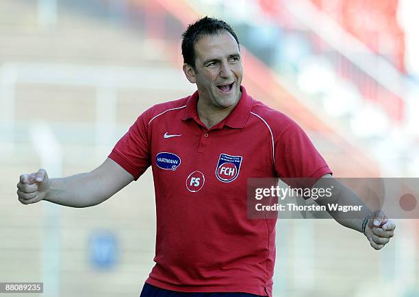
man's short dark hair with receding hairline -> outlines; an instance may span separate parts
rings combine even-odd
[[[227,31],[236,39],[240,49],[240,42],[236,32],[225,21],[209,18],[208,16],[199,19],[195,23],[188,25],[188,29],[182,34],[182,56],[183,62],[189,64],[195,69],[195,50],[194,45],[203,35],[214,35]]]

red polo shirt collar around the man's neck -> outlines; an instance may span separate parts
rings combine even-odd
[[[253,99],[246,93],[246,88],[240,86],[242,91],[242,97],[240,97],[236,107],[230,112],[230,114],[221,121],[220,128],[226,125],[230,128],[241,129],[244,127],[244,124],[247,121],[247,118],[250,115]],[[183,114],[182,120],[186,121],[188,119],[194,119],[194,121],[201,123],[199,119],[198,110],[196,109],[196,104],[198,103],[199,95],[198,91],[195,91],[186,102],[185,113]]]

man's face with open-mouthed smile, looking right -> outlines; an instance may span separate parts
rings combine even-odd
[[[243,68],[238,44],[227,31],[204,35],[195,44],[195,69],[190,82],[198,87],[201,104],[211,109],[235,106],[240,99]],[[191,68],[191,67],[190,67]]]

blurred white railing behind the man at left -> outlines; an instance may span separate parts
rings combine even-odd
[[[16,87],[18,84],[91,86],[97,89],[97,143],[109,143],[110,131],[116,130],[117,91],[123,88],[139,90],[193,90],[183,78],[181,69],[158,67],[102,67],[70,64],[8,63],[0,67],[0,143],[14,143]],[[59,108],[59,106],[58,106]],[[29,119],[30,120],[30,119]]]

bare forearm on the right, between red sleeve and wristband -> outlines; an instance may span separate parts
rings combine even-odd
[[[326,185],[327,183],[327,185]],[[321,186],[320,186],[321,185]],[[342,226],[351,228],[362,232],[362,222],[367,215],[370,215],[372,211],[364,203],[361,198],[353,190],[345,187],[334,178],[325,178],[323,184],[319,187],[331,187],[333,186],[332,195],[330,198],[320,198],[316,200],[319,205],[325,205],[327,212],[335,219],[336,222]],[[328,207],[327,204],[338,204],[341,206],[358,206],[359,211],[340,211],[333,210]]]

